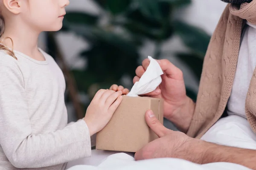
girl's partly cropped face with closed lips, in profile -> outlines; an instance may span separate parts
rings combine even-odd
[[[58,31],[69,0],[22,0],[20,19],[36,31]]]

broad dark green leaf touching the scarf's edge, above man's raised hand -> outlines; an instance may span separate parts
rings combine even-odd
[[[204,57],[209,44],[210,36],[200,28],[190,26],[180,21],[174,21],[175,33],[180,36],[185,45]]]

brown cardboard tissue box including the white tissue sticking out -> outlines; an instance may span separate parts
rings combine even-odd
[[[122,102],[108,124],[96,134],[96,149],[137,152],[157,135],[148,127],[145,113],[151,109],[163,123],[163,100],[140,97],[154,91],[162,82],[162,69],[158,62],[148,56],[148,68]]]

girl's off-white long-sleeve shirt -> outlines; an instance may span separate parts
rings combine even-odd
[[[63,170],[65,162],[91,155],[84,120],[67,125],[64,75],[39,50],[45,61],[0,51],[1,170]]]

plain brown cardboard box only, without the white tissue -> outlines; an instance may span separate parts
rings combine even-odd
[[[96,134],[96,149],[137,152],[157,139],[145,122],[149,109],[163,124],[163,99],[123,96],[110,122]]]

